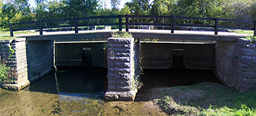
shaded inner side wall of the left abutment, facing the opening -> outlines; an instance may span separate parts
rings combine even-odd
[[[29,81],[44,77],[54,69],[54,41],[27,41],[27,77]]]

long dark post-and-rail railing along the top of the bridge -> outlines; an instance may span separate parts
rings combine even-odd
[[[164,20],[162,20],[162,23],[130,23],[130,19],[168,19],[169,23],[164,23]],[[98,23],[91,23],[91,19],[98,19]],[[99,19],[115,19],[114,23],[106,23],[103,20],[103,23],[99,23]],[[117,21],[117,20],[118,21]],[[204,25],[204,24],[183,24],[183,23],[175,23],[177,19],[185,19],[185,20],[203,20],[203,21],[214,21],[214,24],[212,25]],[[90,23],[82,23],[78,24],[82,21],[90,20]],[[61,26],[46,26],[46,23],[52,23],[52,22],[73,22],[72,24]],[[221,22],[236,22],[236,23],[249,23],[250,27],[225,27],[220,26]],[[43,23],[45,23],[45,26],[43,27]],[[14,29],[13,26],[15,25],[24,25],[24,24],[33,24],[34,27],[31,28],[19,28]],[[36,26],[38,24],[38,26]],[[241,30],[251,30],[254,31],[254,36],[256,36],[256,21],[247,21],[247,20],[236,20],[236,19],[219,19],[219,18],[196,18],[196,17],[179,17],[179,16],[153,16],[153,15],[113,15],[113,16],[95,16],[95,17],[86,17],[86,18],[73,18],[73,19],[52,19],[52,20],[40,20],[36,22],[27,22],[27,23],[10,23],[10,36],[14,36],[14,31],[23,31],[23,30],[39,30],[40,35],[43,35],[43,29],[44,28],[59,28],[59,27],[73,27],[75,33],[78,33],[78,27],[90,27],[90,26],[118,26],[119,31],[122,31],[122,27],[125,26],[125,31],[129,31],[130,26],[162,26],[162,27],[170,27],[171,33],[174,33],[175,27],[210,27],[213,28],[215,31],[215,35],[218,35],[218,31],[220,28],[229,28],[229,29],[241,29]]]

